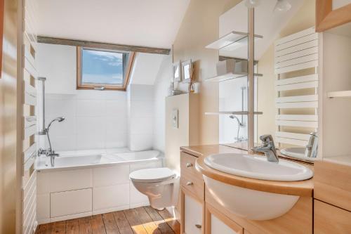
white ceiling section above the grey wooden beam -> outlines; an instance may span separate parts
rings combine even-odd
[[[190,0],[37,0],[38,34],[171,48]]]

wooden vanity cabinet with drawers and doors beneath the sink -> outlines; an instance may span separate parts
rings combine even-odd
[[[182,234],[312,234],[312,197],[300,197],[289,212],[277,219],[244,219],[225,209],[208,193],[202,175],[195,168],[197,159],[190,152],[180,152]]]

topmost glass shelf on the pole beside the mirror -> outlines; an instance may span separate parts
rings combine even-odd
[[[223,37],[220,37],[217,41],[206,46],[206,48],[213,49],[225,49],[227,51],[234,51],[242,46],[247,46],[249,34],[247,32],[236,32],[232,31]],[[261,39],[263,36],[255,35],[255,40]]]

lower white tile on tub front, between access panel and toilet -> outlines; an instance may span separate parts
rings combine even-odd
[[[129,183],[93,188],[93,210],[129,205]]]

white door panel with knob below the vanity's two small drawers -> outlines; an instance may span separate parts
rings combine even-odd
[[[185,194],[184,229],[187,234],[201,234],[202,204]]]

